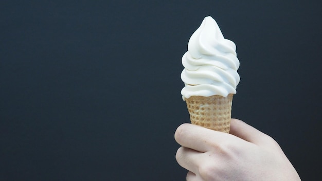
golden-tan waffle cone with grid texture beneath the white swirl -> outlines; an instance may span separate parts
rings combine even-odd
[[[186,98],[191,123],[229,133],[232,96],[233,94],[227,97],[214,95]]]

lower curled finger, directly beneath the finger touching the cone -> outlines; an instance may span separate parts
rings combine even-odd
[[[197,173],[200,164],[200,154],[202,153],[189,148],[180,147],[175,154],[175,159],[181,167],[193,173]]]

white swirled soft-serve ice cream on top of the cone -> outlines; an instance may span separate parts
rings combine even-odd
[[[205,17],[191,35],[182,64],[185,67],[181,73],[185,83],[181,91],[183,100],[191,96],[236,94],[240,81],[236,45],[224,38],[211,16]]]

